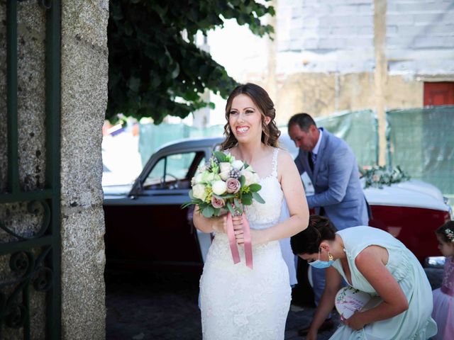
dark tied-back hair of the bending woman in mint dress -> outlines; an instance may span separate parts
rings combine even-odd
[[[293,254],[314,254],[319,252],[323,240],[336,239],[336,227],[328,217],[319,215],[309,216],[309,225],[306,229],[292,236],[290,245]]]

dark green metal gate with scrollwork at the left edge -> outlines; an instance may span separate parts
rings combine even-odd
[[[38,294],[43,295],[45,337],[60,339],[60,0],[38,1],[45,11],[46,160],[44,188],[35,191],[23,190],[19,178],[18,2],[6,2],[8,169],[6,192],[0,193],[6,210],[3,220],[0,216],[0,232],[6,235],[0,239],[0,339],[36,337],[30,310]],[[9,209],[18,205],[39,221],[36,232],[11,227]]]

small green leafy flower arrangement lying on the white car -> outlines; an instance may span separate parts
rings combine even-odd
[[[409,181],[410,176],[395,166],[393,169],[386,166],[372,166],[370,169],[362,171],[362,177],[365,179],[364,188],[380,188],[384,185],[390,186],[392,183]]]

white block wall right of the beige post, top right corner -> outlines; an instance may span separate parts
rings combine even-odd
[[[454,1],[388,0],[389,74],[454,74]]]

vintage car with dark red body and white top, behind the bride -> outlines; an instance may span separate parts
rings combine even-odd
[[[206,162],[221,137],[182,140],[153,154],[131,184],[104,186],[107,266],[200,271],[211,235],[192,225],[190,181]],[[288,135],[279,139],[294,156],[297,148]],[[314,193],[302,177],[306,194]],[[405,181],[384,188],[366,188],[372,210],[370,225],[400,239],[423,263],[439,254],[434,230],[452,218],[438,188],[421,181]]]

